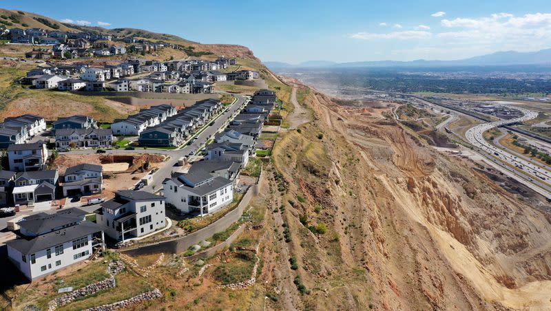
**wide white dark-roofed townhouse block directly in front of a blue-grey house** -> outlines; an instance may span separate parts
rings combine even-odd
[[[56,148],[106,148],[113,143],[112,129],[56,129]]]

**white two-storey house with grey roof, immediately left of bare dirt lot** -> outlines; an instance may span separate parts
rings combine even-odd
[[[94,164],[79,164],[69,167],[63,175],[63,196],[101,193],[103,167]]]

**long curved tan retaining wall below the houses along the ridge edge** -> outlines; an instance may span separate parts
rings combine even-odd
[[[243,195],[241,201],[239,202],[238,206],[234,208],[232,211],[229,211],[226,215],[224,215],[222,218],[216,220],[216,222],[213,222],[212,224],[209,224],[209,226],[206,226],[205,228],[201,228],[194,233],[190,233],[189,235],[185,235],[184,237],[177,237],[176,239],[171,239],[169,241],[163,241],[158,242],[154,244],[148,244],[145,246],[137,246],[136,248],[130,248],[127,250],[121,250],[121,253],[125,253],[127,255],[145,255],[145,254],[155,254],[155,253],[182,253],[185,250],[187,250],[190,246],[194,244],[198,244],[199,242],[211,237],[215,233],[222,232],[229,228],[233,223],[237,222],[240,217],[243,215],[243,212],[245,211],[245,208],[249,206],[249,203],[251,202],[251,199],[254,195],[258,195],[260,192],[261,187],[264,185],[264,170],[260,172],[260,177],[258,178],[258,181],[255,185],[251,186],[245,195]],[[243,228],[244,226],[242,226]],[[242,230],[242,229],[241,229]],[[238,235],[233,233],[233,235],[230,236],[235,239]],[[228,240],[229,240],[228,239]],[[231,239],[231,242],[233,242],[233,239]],[[226,241],[227,242],[227,241]],[[231,244],[229,242],[229,244]],[[229,245],[227,243],[222,243],[219,246],[215,246],[216,250],[222,249],[225,246]],[[216,252],[216,250],[213,251]]]

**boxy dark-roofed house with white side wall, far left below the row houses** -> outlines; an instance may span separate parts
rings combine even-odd
[[[10,144],[7,153],[10,171],[38,171],[46,168],[48,149],[41,140],[32,144]]]

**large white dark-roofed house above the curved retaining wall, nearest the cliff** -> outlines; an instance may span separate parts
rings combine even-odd
[[[193,167],[193,165],[191,166]],[[233,201],[233,180],[196,169],[163,182],[167,204],[183,213],[199,212],[201,217]]]

